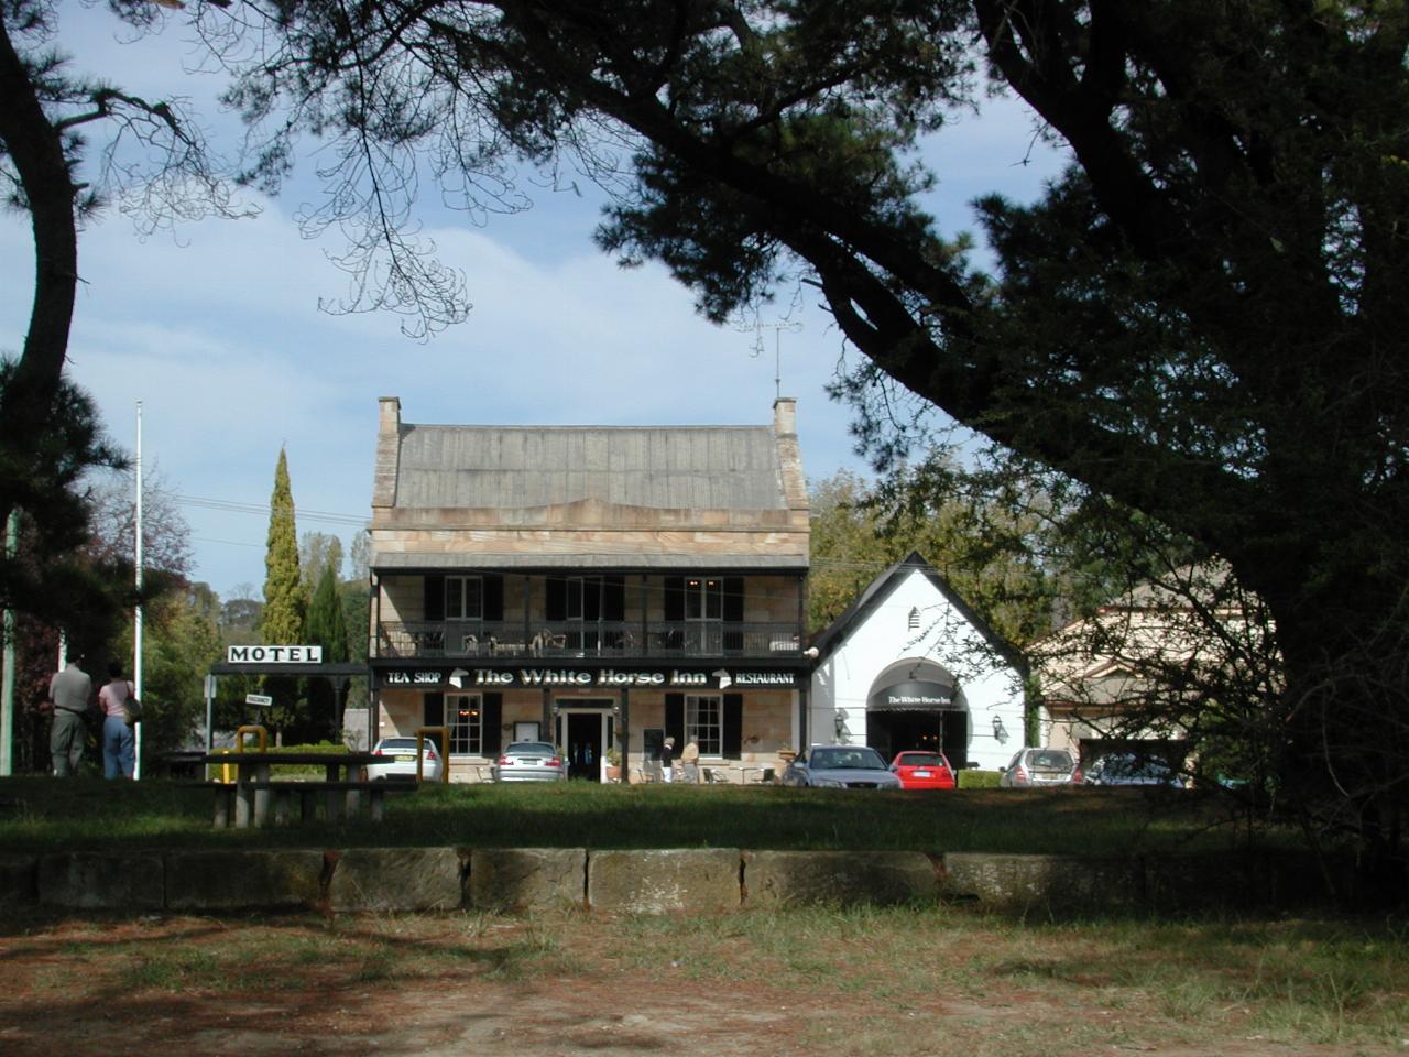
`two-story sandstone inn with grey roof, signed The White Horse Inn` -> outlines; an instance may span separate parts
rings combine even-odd
[[[809,505],[771,426],[402,421],[372,499],[378,736],[448,727],[455,781],[545,740],[637,777],[674,736],[734,781],[807,744]]]

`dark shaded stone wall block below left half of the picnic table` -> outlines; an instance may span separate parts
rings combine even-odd
[[[323,902],[321,851],[273,848],[172,851],[166,855],[170,910],[286,910]]]

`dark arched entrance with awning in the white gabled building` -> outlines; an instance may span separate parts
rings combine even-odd
[[[909,748],[941,751],[955,768],[968,762],[969,715],[954,675],[934,661],[886,667],[867,693],[867,744],[890,760]]]

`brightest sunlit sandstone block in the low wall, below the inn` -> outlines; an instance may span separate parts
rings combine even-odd
[[[593,910],[671,913],[737,910],[737,848],[593,851],[588,855],[588,903]]]

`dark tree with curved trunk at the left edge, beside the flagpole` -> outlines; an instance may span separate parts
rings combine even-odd
[[[110,8],[139,31],[162,17],[142,0],[114,0]],[[0,190],[30,216],[35,251],[24,345],[4,365],[0,386],[0,524],[24,510],[51,554],[80,545],[83,505],[77,495],[65,496],[72,478],[48,471],[120,462],[92,409],[76,407],[82,396],[63,382],[80,224],[110,199],[148,231],[207,210],[232,211],[179,107],[70,73],[52,47],[56,18],[49,0],[0,4]],[[89,132],[107,135],[96,156]],[[42,609],[72,586],[59,582],[68,575],[62,564],[34,562],[30,579],[24,571],[11,576],[8,565],[0,558],[11,606]],[[46,582],[35,588],[32,575]],[[85,605],[97,609],[101,599]]]

